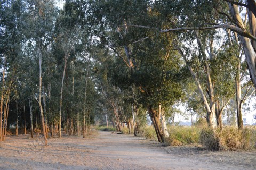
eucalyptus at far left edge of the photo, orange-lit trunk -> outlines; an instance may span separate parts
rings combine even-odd
[[[1,1],[0,6],[0,56],[2,79],[1,79],[1,104],[0,104],[0,141],[4,140],[4,132],[2,126],[7,128],[7,111],[9,111],[9,96],[11,92],[12,83],[17,80],[15,73],[18,73],[18,60],[20,57],[20,50],[22,49],[22,25],[23,25],[23,2],[22,1]],[[6,74],[7,73],[7,74]],[[16,82],[17,83],[17,82]],[[5,103],[5,105],[4,105]],[[4,105],[4,120],[3,117]],[[2,122],[2,120],[4,122]],[[2,123],[6,123],[3,125]],[[6,129],[5,129],[6,131]]]

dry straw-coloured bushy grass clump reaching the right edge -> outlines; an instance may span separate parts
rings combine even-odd
[[[200,140],[208,150],[235,150],[256,148],[256,129],[236,127],[216,129],[205,128],[201,131]]]

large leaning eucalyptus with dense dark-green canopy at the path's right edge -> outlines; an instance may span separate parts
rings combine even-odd
[[[138,44],[130,44],[138,39],[138,37],[143,38],[148,35],[157,35],[155,31],[145,31],[143,28],[129,27],[130,25],[138,24],[150,24],[151,27],[157,27],[157,25],[161,24],[162,21],[157,20],[157,13],[151,11],[152,4],[153,2],[151,1],[93,1],[89,2],[90,6],[87,11],[89,13],[89,22],[93,21],[91,24],[98,25],[98,29],[95,30],[94,33],[100,38],[101,45],[113,50],[121,59],[118,59],[119,62],[122,61],[124,63],[122,67],[119,68],[120,70],[115,71],[115,73],[119,72],[119,75],[114,75],[114,78],[121,76],[122,83],[131,84],[131,90],[141,88],[141,91],[145,92],[146,95],[143,94],[141,96],[148,98],[145,100],[144,104],[148,107],[148,113],[151,116],[156,133],[158,134],[158,140],[163,141],[159,122],[160,114],[156,112],[153,107],[158,108],[164,105],[165,101],[175,100],[175,97],[169,99],[167,99],[168,97],[164,97],[164,95],[167,96],[169,92],[173,92],[173,94],[177,92],[176,99],[178,99],[180,97],[178,94],[181,91],[177,90],[178,88],[175,89],[177,91],[168,91],[171,86],[174,86],[173,82],[170,83],[169,81],[171,77],[175,75],[175,73],[173,75],[166,73],[166,65],[171,62],[171,57],[169,57],[170,49],[167,48],[171,39],[169,36],[159,36],[160,40],[158,42],[157,38],[148,38],[147,40],[144,39],[145,41],[137,42]],[[137,15],[134,15],[134,13]],[[151,58],[151,60],[149,58]],[[114,65],[120,64],[114,63]],[[171,71],[175,70],[172,68],[169,69]],[[140,79],[140,77],[145,79]],[[168,77],[168,79],[166,77]],[[119,83],[121,81],[119,81]],[[118,82],[118,80],[116,80],[116,82]],[[148,83],[148,85],[146,85],[146,83]],[[118,86],[121,86],[121,84],[118,84]],[[167,91],[165,91],[165,88]],[[158,97],[158,101],[156,97]]]

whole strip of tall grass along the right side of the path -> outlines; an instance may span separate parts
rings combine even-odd
[[[256,128],[247,126],[242,130],[236,127],[223,127],[211,129],[205,125],[169,126],[169,138],[165,139],[167,145],[204,145],[208,150],[236,150],[256,149]],[[153,126],[141,128],[141,135],[148,139],[157,140]]]

